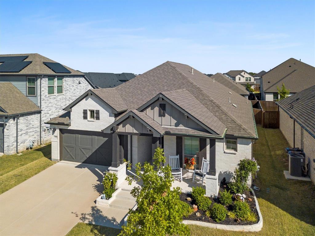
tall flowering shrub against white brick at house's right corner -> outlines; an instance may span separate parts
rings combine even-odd
[[[249,175],[255,178],[257,171],[257,162],[255,159],[242,159],[237,164],[232,176],[232,181],[229,184],[234,193],[243,193],[247,189],[247,181]]]

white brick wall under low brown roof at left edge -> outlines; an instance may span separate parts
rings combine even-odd
[[[16,153],[16,121],[13,117],[4,118],[4,154]],[[21,115],[18,119],[18,151],[26,150],[30,141],[34,141],[34,147],[39,144],[39,112]]]

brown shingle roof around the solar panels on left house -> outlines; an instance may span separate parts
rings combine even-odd
[[[1,72],[0,75],[10,75],[10,74],[44,74],[44,75],[84,75],[82,72],[76,71],[68,66],[66,67],[71,73],[55,73],[49,67],[45,66],[43,62],[56,62],[47,57],[39,55],[37,53],[29,53],[29,54],[2,54],[1,57],[6,56],[28,56],[24,61],[32,61],[31,64],[26,66],[20,72]]]

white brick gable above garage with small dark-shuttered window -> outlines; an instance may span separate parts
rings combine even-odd
[[[89,109],[100,110],[100,120],[83,120],[84,109],[88,110],[88,118]],[[105,129],[108,125],[112,124],[114,120],[115,118],[114,114],[112,113],[112,109],[99,98],[91,95],[87,96],[72,107],[70,129],[100,131],[102,129]]]

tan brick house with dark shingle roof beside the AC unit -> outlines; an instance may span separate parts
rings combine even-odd
[[[315,184],[315,85],[277,102],[280,130],[290,147],[305,153],[308,174]]]

